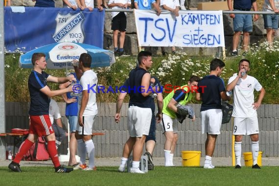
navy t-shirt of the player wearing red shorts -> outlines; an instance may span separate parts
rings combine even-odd
[[[28,89],[30,93],[30,116],[48,115],[50,99],[40,90],[46,87],[48,74],[44,71],[39,73],[32,70],[28,78]]]

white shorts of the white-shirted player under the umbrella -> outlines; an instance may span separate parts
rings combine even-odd
[[[76,131],[78,131],[79,135],[92,135],[93,130],[93,123],[95,120],[95,116],[83,116],[83,124],[84,126],[81,127],[78,123],[76,123]]]

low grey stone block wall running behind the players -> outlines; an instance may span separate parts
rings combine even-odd
[[[65,117],[65,103],[58,103],[63,123],[67,123]],[[98,103],[98,116],[93,125],[93,132],[103,132],[104,136],[93,138],[96,157],[121,157],[123,146],[129,138],[127,130],[127,110],[125,103],[121,109],[121,120],[116,123],[114,120],[116,103]],[[178,124],[179,139],[175,150],[176,157],[181,156],[183,150],[201,151],[205,156],[206,135],[201,134],[200,104],[191,104],[194,108],[197,119],[195,122],[186,119]],[[263,157],[279,157],[279,105],[261,105],[257,111],[259,122],[259,149]],[[12,128],[28,128],[28,103],[6,102],[6,131]],[[65,127],[66,129],[66,127]],[[163,157],[164,136],[160,125],[157,125],[156,147],[153,155]],[[13,144],[13,139],[7,138],[8,145]],[[67,139],[59,147],[59,153],[67,154]],[[244,136],[242,140],[242,152],[251,151],[251,140]],[[223,124],[221,134],[217,138],[214,157],[232,156],[232,121]]]

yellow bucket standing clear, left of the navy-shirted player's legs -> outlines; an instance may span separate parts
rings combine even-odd
[[[182,166],[200,166],[201,151],[181,151]]]

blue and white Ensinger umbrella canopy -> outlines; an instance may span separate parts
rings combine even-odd
[[[45,53],[48,69],[73,69],[72,60],[78,60],[80,54],[88,53],[92,57],[91,67],[108,67],[115,63],[114,52],[97,46],[62,42],[42,46],[31,50],[20,56],[19,66],[21,68],[33,68],[33,53]]]

